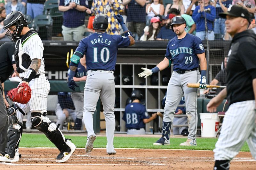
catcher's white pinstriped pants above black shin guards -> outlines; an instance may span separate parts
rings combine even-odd
[[[31,112],[47,112],[47,96],[50,92],[50,83],[46,79],[44,74],[41,74],[39,78],[34,78],[29,82],[29,86],[32,90],[31,99],[26,104],[16,103],[25,114],[30,110]],[[23,115],[19,110],[16,111],[16,117],[19,122],[23,121]],[[50,121],[50,120],[49,120]],[[20,125],[16,124],[15,129],[20,129]]]

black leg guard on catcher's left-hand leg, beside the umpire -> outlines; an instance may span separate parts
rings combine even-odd
[[[5,153],[9,154],[10,158],[13,159],[15,156],[15,148],[17,148],[20,137],[22,134],[22,122],[18,121],[16,117],[16,111],[19,110],[20,113],[24,116],[25,113],[20,109],[16,104],[12,104],[8,109],[8,130],[7,130],[7,144],[5,148]]]

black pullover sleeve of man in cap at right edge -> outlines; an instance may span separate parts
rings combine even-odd
[[[256,43],[252,43],[252,41],[248,43],[243,42],[239,45],[238,49],[240,49],[238,50],[238,56],[240,56],[242,64],[250,72],[252,79],[256,78]]]

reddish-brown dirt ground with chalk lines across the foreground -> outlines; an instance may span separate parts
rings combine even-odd
[[[20,148],[19,162],[0,163],[1,169],[213,169],[212,151],[171,149],[116,149],[116,155],[107,155],[106,149],[94,148],[85,155],[78,148],[65,163],[56,163],[59,153],[55,148]],[[256,161],[250,152],[240,152],[231,161],[230,169],[255,169]]]

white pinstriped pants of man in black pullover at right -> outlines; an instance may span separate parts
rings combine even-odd
[[[233,103],[225,113],[219,139],[215,145],[215,160],[233,159],[246,141],[256,159],[255,100]]]

